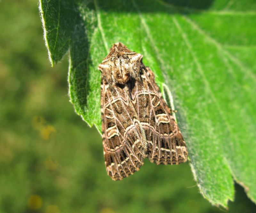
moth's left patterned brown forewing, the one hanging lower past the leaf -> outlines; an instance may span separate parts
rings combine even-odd
[[[120,180],[138,171],[145,158],[145,133],[127,89],[101,84],[102,138],[108,175]]]

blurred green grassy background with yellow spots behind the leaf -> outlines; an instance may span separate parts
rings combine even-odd
[[[36,0],[0,1],[0,213],[223,212],[199,193],[189,164],[112,181],[101,136],[74,112],[68,58],[50,66]],[[236,185],[228,212],[256,212]]]

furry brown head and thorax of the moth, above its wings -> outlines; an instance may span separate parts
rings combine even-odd
[[[129,80],[140,79],[142,55],[133,52],[122,43],[115,43],[98,69],[109,85],[126,84]]]

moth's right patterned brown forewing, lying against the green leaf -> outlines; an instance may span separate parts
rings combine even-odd
[[[185,141],[149,67],[142,66],[141,79],[142,84],[135,83],[131,94],[148,141],[147,158],[165,165],[186,162]]]

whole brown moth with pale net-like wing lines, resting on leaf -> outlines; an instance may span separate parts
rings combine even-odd
[[[143,165],[180,164],[188,151],[142,55],[115,43],[98,66],[103,153],[108,175],[121,180]]]

